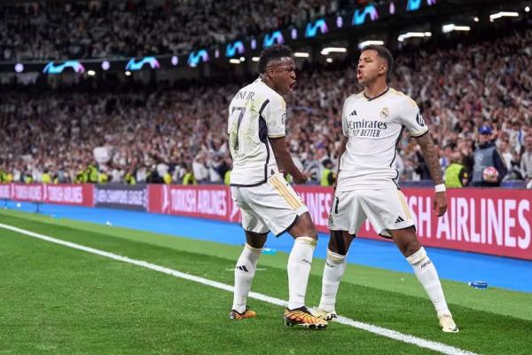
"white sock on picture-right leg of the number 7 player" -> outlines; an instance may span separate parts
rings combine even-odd
[[[305,305],[314,248],[316,248],[316,240],[313,238],[299,237],[293,242],[292,252],[288,256],[289,310]]]

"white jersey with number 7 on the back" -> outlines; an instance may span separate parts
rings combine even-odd
[[[286,102],[260,79],[240,89],[229,106],[231,186],[266,183],[278,172],[268,138],[284,137]]]

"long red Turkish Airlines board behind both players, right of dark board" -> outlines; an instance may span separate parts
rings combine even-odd
[[[295,191],[309,207],[317,230],[328,233],[332,189],[302,185]],[[432,210],[432,189],[405,188],[403,193],[423,245],[532,260],[532,191],[451,189],[447,214],[441,218]],[[149,211],[240,222],[229,188],[220,185],[150,185]],[[382,240],[369,221],[358,234]]]

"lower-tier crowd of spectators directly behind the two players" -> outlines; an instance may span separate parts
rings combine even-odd
[[[532,30],[423,48],[399,52],[391,86],[418,102],[432,127],[442,170],[459,163],[471,179],[482,132],[504,160],[500,179],[529,182]],[[361,90],[356,63],[304,68],[296,86],[287,98],[288,142],[296,160],[319,182],[325,165],[338,163],[343,100]],[[227,106],[238,89],[237,83],[226,83],[186,90],[5,91],[0,177],[223,183],[231,170]],[[414,139],[405,134],[398,152],[403,181],[429,178]]]

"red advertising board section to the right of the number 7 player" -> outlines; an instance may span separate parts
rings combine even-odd
[[[332,190],[312,186],[295,190],[309,207],[317,230],[328,233]],[[432,210],[434,190],[405,188],[403,193],[423,245],[532,260],[531,190],[450,189],[447,213],[441,218]],[[358,234],[383,240],[368,220]]]

